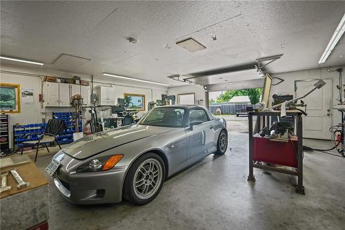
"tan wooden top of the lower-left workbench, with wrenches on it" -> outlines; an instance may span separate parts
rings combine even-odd
[[[17,169],[17,172],[23,178],[24,182],[30,182],[30,186],[23,186],[21,189],[17,189],[17,181],[14,179],[13,175],[10,173],[10,170]],[[1,174],[8,171],[7,175],[7,185],[11,186],[10,191],[4,191],[0,194],[0,198],[6,198],[9,195],[14,195],[21,193],[23,191],[28,191],[30,189],[37,188],[48,184],[48,180],[42,175],[37,166],[30,160],[24,164],[18,164],[13,166],[6,166],[0,169]],[[0,179],[1,180],[1,179]]]

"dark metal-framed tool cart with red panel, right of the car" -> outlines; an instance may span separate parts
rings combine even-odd
[[[253,117],[257,122],[253,126]],[[259,131],[269,127],[273,117],[279,117],[280,111],[249,112],[249,175],[248,181],[255,182],[253,168],[265,169],[279,173],[297,176],[296,193],[304,194],[303,186],[303,133],[302,113],[300,111],[286,111],[286,116],[293,119],[295,125],[294,136],[290,139],[268,139],[261,137]],[[267,164],[262,164],[267,163]],[[282,169],[271,164],[289,166],[291,169]]]

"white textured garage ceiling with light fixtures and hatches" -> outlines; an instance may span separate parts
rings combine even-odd
[[[284,54],[267,67],[280,73],[317,68],[344,11],[345,1],[1,1],[1,55],[177,85],[167,76]],[[206,49],[175,44],[188,37]],[[61,54],[91,61],[52,64]],[[325,66],[344,64],[342,41]]]

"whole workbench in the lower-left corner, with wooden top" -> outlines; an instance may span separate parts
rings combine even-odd
[[[0,159],[1,173],[16,169],[30,186],[17,188],[9,172],[7,184],[12,188],[0,194],[1,229],[31,229],[39,226],[48,229],[49,192],[48,180],[27,155],[14,155]]]

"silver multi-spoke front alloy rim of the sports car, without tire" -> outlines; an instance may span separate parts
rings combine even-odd
[[[155,158],[144,160],[135,171],[133,180],[135,195],[142,200],[151,198],[159,189],[161,180],[161,163]]]

